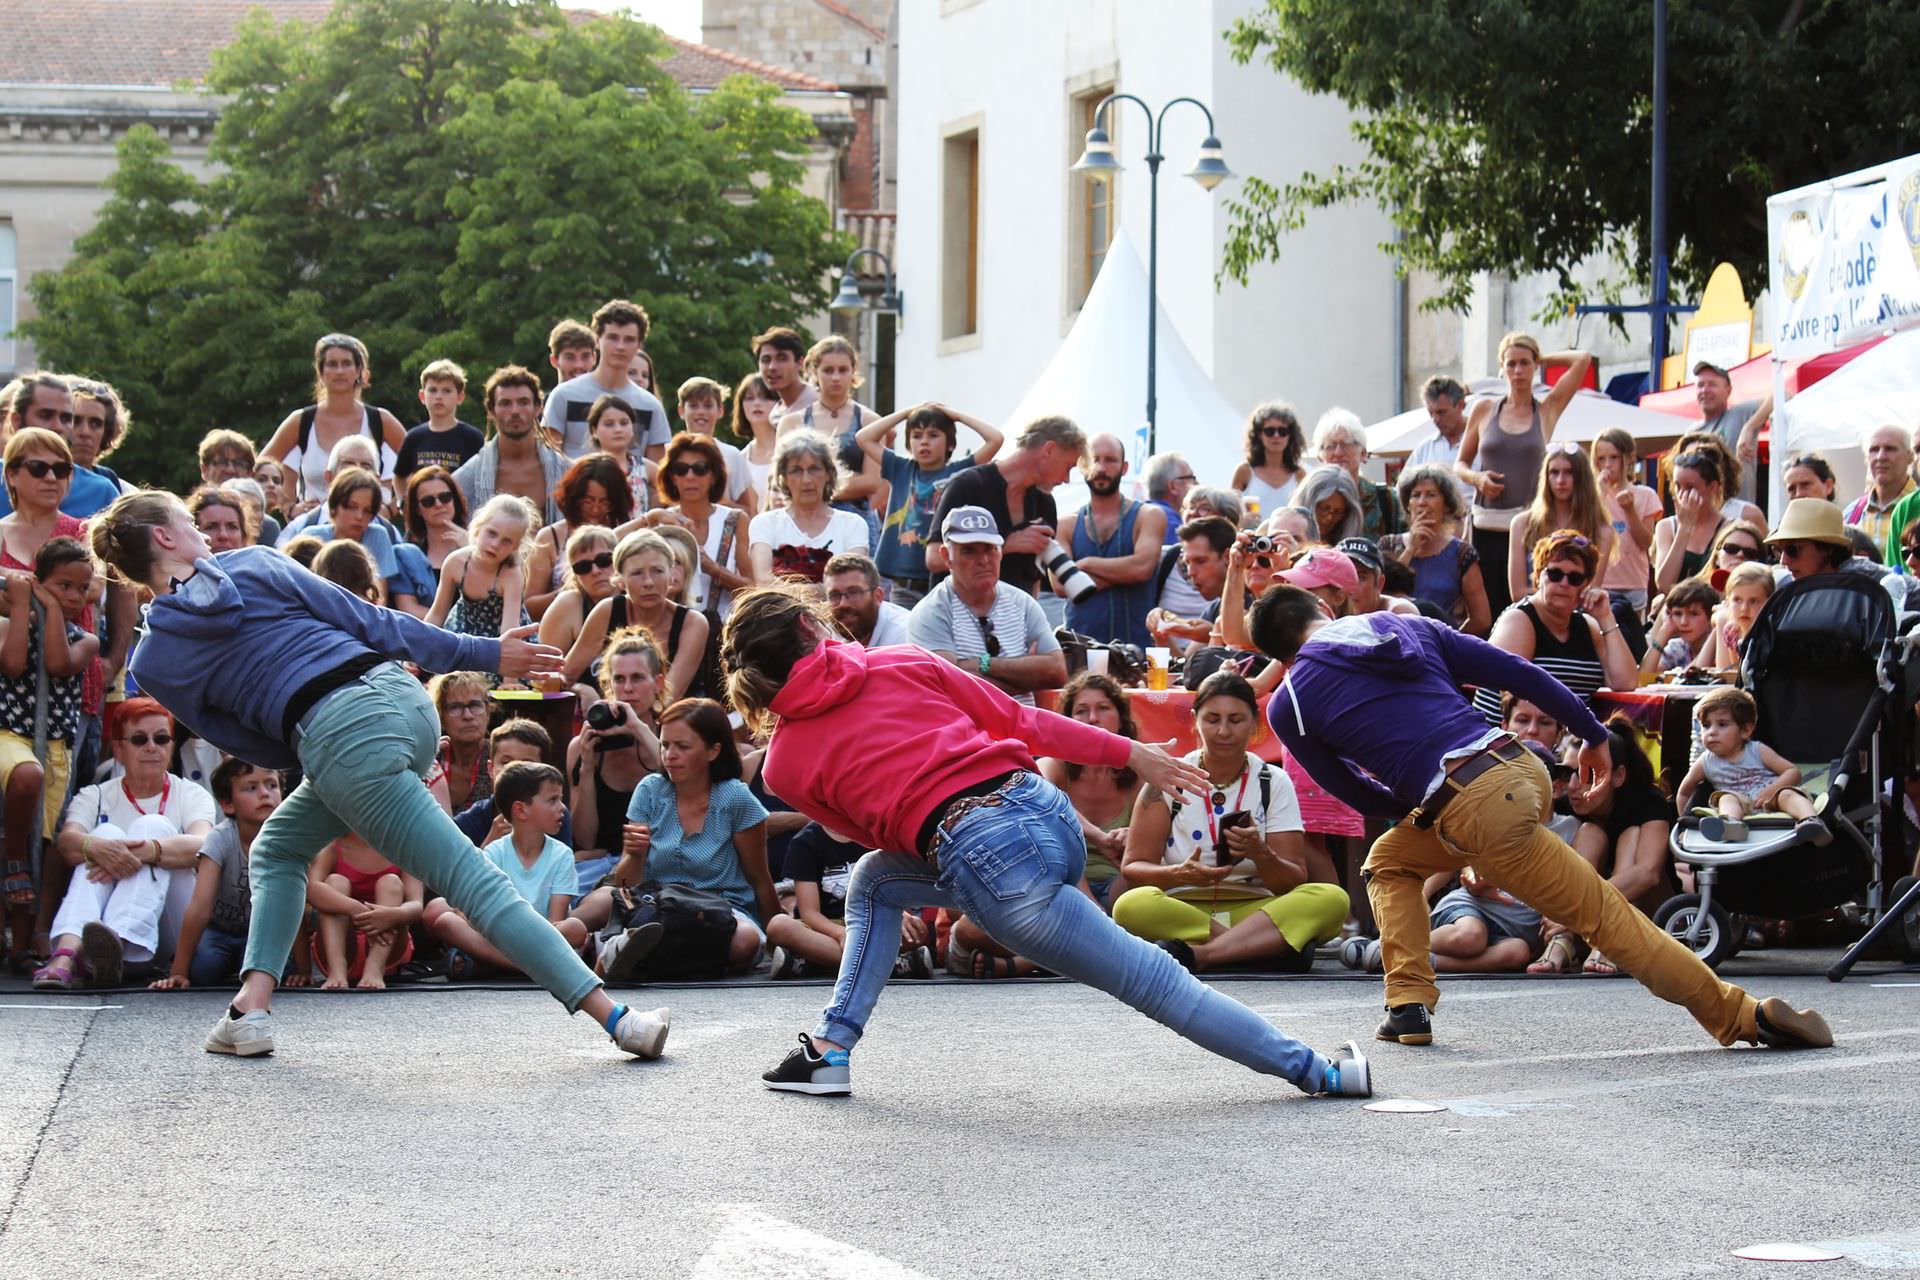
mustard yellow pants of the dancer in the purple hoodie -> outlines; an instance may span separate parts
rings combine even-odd
[[[1421,881],[1473,865],[1548,919],[1607,954],[1661,1000],[1686,1009],[1720,1044],[1757,1038],[1755,1000],[1722,983],[1701,960],[1540,823],[1553,785],[1532,754],[1503,760],[1473,779],[1427,831],[1402,821],[1367,854],[1367,900],[1380,925],[1386,1004],[1440,1004],[1428,956],[1427,896]],[[1117,912],[1116,912],[1117,915]]]

